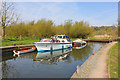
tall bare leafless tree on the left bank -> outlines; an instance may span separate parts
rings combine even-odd
[[[18,21],[18,16],[15,14],[14,2],[0,3],[0,25],[2,27],[2,40],[5,37],[5,28]]]

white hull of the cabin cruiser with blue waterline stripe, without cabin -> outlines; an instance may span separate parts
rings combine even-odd
[[[72,43],[35,43],[35,46],[39,52],[44,52],[68,49],[72,47]]]

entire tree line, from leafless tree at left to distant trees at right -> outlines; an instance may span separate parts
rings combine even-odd
[[[84,21],[75,21],[73,23],[72,20],[66,20],[61,25],[55,25],[52,20],[46,19],[41,19],[37,22],[18,23],[19,16],[14,8],[13,2],[0,3],[0,35],[2,35],[3,40],[5,35],[16,37],[21,35],[36,38],[46,38],[57,34],[66,34],[72,38],[86,38],[104,34],[118,36],[118,27],[92,27]]]

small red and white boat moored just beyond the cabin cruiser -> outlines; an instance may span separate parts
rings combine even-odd
[[[81,39],[77,39],[77,40],[73,41],[72,44],[73,44],[73,48],[81,49],[81,48],[84,48],[87,45],[87,42],[83,41]]]

